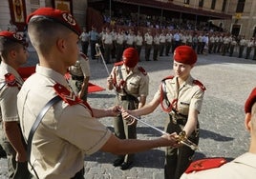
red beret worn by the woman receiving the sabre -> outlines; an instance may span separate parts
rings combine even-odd
[[[179,46],[174,50],[173,59],[182,64],[193,65],[197,62],[198,56],[191,47]]]

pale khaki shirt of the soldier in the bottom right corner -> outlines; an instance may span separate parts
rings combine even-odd
[[[182,174],[181,179],[254,179],[256,176],[256,154],[246,152],[220,168]]]

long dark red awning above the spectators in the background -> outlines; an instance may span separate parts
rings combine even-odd
[[[115,2],[124,3],[124,4],[132,4],[138,5],[141,7],[150,7],[160,10],[171,10],[182,13],[194,14],[199,16],[207,16],[211,19],[232,19],[232,15],[210,11],[210,10],[202,10],[202,9],[194,9],[184,6],[175,5],[172,2],[161,2],[156,0],[113,0]]]

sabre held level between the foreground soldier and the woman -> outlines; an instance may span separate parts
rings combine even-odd
[[[139,118],[136,117],[136,116],[133,116],[133,115],[131,115],[131,114],[129,114],[129,116],[132,117],[133,119],[139,121],[140,123],[143,123],[144,125],[146,125],[146,126],[152,128],[152,129],[156,129],[156,130],[160,131],[161,134],[168,134],[167,132],[165,132],[165,131],[163,131],[163,130],[161,130],[161,129],[158,129],[158,128],[156,128],[156,127],[154,127],[154,126],[152,126],[152,125],[150,125],[150,124],[148,124],[148,123],[142,121],[141,119],[139,119]],[[184,131],[184,130],[182,130],[182,131],[179,133],[179,135],[176,137],[176,140],[177,140],[179,143],[181,143],[181,144],[183,144],[183,145],[189,147],[190,149],[193,149],[193,150],[199,149],[199,147],[198,147],[196,144],[192,143],[190,140],[188,140],[188,139],[186,138],[186,135],[185,135],[185,131]]]

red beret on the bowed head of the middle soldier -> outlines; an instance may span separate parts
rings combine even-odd
[[[139,62],[139,53],[134,48],[127,48],[122,53],[122,59],[127,67],[134,68]]]

